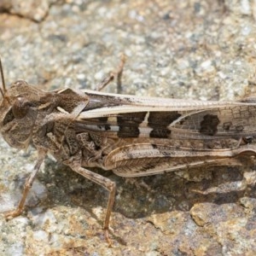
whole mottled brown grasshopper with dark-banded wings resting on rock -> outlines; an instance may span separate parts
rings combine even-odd
[[[122,73],[121,63],[118,77]],[[108,94],[93,90],[39,90],[18,80],[6,87],[0,61],[3,96],[0,129],[10,147],[32,144],[38,160],[27,178],[17,208],[47,154],[74,172],[108,189],[103,229],[108,235],[115,183],[87,167],[122,177],[142,177],[186,168],[230,165],[256,154],[256,98],[241,102],[188,101]],[[102,82],[102,87],[113,79]]]

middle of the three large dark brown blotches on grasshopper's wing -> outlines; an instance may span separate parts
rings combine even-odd
[[[181,116],[177,111],[173,112],[150,112],[148,116],[148,126],[153,130],[150,131],[150,137],[167,138],[171,130],[167,128],[173,121]]]

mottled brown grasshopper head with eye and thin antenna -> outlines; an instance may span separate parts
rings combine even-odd
[[[11,147],[26,149],[32,139],[32,129],[38,115],[38,90],[23,80],[11,84],[7,90],[0,60],[3,96],[0,104],[0,132]]]

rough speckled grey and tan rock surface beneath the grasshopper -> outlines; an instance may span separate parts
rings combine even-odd
[[[37,2],[37,4],[35,4]],[[1,1],[7,84],[94,89],[127,55],[123,93],[235,100],[255,93],[256,1]],[[105,91],[115,92],[115,84]],[[0,212],[15,207],[37,152],[0,143]],[[44,162],[26,211],[0,214],[0,255],[255,255],[255,166],[117,183],[113,247],[102,232],[108,192]]]

